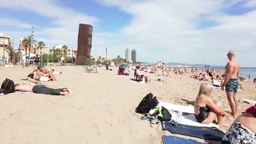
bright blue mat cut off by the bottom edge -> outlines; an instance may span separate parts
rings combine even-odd
[[[194,139],[184,139],[178,136],[162,136],[163,144],[211,144],[208,142],[197,142]]]

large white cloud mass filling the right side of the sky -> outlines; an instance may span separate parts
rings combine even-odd
[[[256,46],[256,11],[235,16],[222,13],[242,0],[98,2],[117,7],[133,16],[130,24],[123,27],[120,33],[129,43],[136,43],[136,47],[130,48],[143,53],[138,53],[138,59],[224,65],[229,50],[254,55],[250,50]],[[210,21],[213,25],[200,29],[203,21]],[[147,52],[154,48],[154,53]],[[249,61],[242,61],[242,64],[255,65]]]

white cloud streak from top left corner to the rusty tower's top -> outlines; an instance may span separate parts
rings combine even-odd
[[[29,5],[27,5],[29,4]],[[31,6],[33,5],[33,6]],[[30,11],[46,18],[52,18],[56,27],[43,30],[49,34],[49,38],[58,40],[76,40],[78,35],[78,24],[95,24],[98,19],[87,14],[74,11],[70,8],[63,8],[56,5],[55,0],[0,0],[0,8],[18,9],[20,11]]]

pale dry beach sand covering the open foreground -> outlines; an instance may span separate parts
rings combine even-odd
[[[24,82],[29,68],[0,68],[0,81],[11,78]],[[98,69],[98,73],[82,72],[82,66],[46,67],[63,72],[56,75],[59,82],[48,85],[72,89],[68,96],[43,94],[8,94],[0,97],[0,143],[71,144],[71,143],[160,143],[161,136],[171,135],[162,131],[160,124],[152,127],[139,120],[134,110],[142,98],[152,92],[158,101],[188,105],[194,101],[201,82],[188,75],[157,76],[153,82],[140,84],[130,82],[130,76],[117,75],[114,71]],[[164,82],[157,82],[161,78]],[[26,82],[25,82],[26,83]],[[246,92],[239,91],[238,99],[255,100],[255,85],[242,82]],[[230,111],[224,91],[214,88],[213,99],[222,102],[224,110]],[[184,100],[187,101],[184,101]],[[239,113],[250,104],[239,102]],[[233,119],[226,115],[230,124]],[[227,130],[227,128],[222,128]],[[202,141],[202,140],[200,140]]]

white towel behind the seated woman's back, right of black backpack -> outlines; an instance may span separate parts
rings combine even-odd
[[[181,110],[182,113],[194,114],[194,107],[192,106],[176,105],[176,104],[165,103],[160,101],[157,107],[165,107],[167,110],[174,110],[174,111]]]

